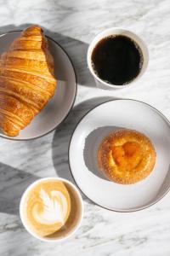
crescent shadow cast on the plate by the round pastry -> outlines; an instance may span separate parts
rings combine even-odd
[[[122,128],[123,127],[117,126],[103,126],[90,132],[88,134],[88,137],[86,137],[83,151],[83,159],[88,170],[92,172],[95,176],[108,180],[102,172],[99,172],[97,161],[99,144],[101,143],[101,140],[109,133]]]

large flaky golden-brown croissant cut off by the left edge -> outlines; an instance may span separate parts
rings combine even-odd
[[[54,96],[54,60],[40,26],[21,32],[0,56],[0,129],[15,137]]]

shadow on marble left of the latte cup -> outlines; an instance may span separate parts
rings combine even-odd
[[[36,175],[0,163],[0,212],[19,215],[20,198]]]

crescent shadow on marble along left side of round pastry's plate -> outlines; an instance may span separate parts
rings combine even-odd
[[[54,132],[54,138],[52,143],[52,157],[54,168],[59,177],[64,177],[74,183],[73,177],[71,176],[71,171],[68,162],[68,148],[71,140],[72,132],[75,130],[78,121],[88,113],[88,111],[100,103],[107,102],[116,98],[105,96],[96,97],[85,102],[78,104],[68,118],[59,125],[58,129]],[[75,155],[75,160],[77,156]],[[83,196],[83,199],[86,197]]]

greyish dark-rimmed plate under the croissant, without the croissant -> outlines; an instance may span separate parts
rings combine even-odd
[[[0,55],[8,49],[14,38],[19,37],[20,32],[8,32],[0,36]],[[55,77],[58,79],[58,87],[53,98],[45,108],[26,126],[17,137],[7,137],[0,133],[1,137],[14,140],[29,140],[42,137],[53,131],[70,112],[77,95],[77,79],[74,67],[65,50],[52,38],[48,38],[49,50],[54,56]]]

